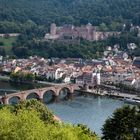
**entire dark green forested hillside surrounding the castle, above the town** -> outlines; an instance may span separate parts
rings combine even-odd
[[[58,26],[90,22],[103,31],[122,34],[105,41],[81,41],[80,44],[42,42],[52,22]],[[119,44],[126,50],[127,43],[135,43],[138,48],[134,55],[139,55],[140,37],[137,31],[130,32],[131,24],[140,25],[140,0],[0,0],[0,33],[20,33],[11,47],[14,57],[98,58],[107,45]],[[5,42],[0,44],[4,44],[0,55],[10,54],[10,49],[4,47]]]

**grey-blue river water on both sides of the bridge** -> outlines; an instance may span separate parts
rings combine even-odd
[[[26,90],[34,88],[31,85],[15,85],[0,82],[0,89]],[[3,92],[0,91],[0,95]],[[91,130],[101,135],[101,128],[105,120],[112,115],[114,110],[122,107],[123,101],[105,96],[75,96],[73,100],[48,104],[47,106],[64,122],[87,125]]]

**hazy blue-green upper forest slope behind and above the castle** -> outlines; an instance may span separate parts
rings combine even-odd
[[[108,26],[114,22],[139,25],[139,9],[140,0],[0,0],[0,31],[9,26],[19,30],[20,23],[28,20],[40,25],[52,22],[58,25],[88,22]],[[5,28],[1,29],[3,23]]]

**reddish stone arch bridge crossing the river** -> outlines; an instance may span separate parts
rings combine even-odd
[[[32,90],[26,90],[21,91],[18,93],[12,93],[4,95],[0,102],[1,104],[10,104],[10,100],[13,98],[17,98],[18,101],[25,101],[29,98],[31,94],[34,94],[36,99],[44,102],[44,95],[49,94],[48,92],[51,92],[51,98],[50,100],[57,101],[59,100],[59,96],[61,94],[61,91],[67,91],[65,94],[65,98],[72,97],[75,90],[77,90],[79,87],[75,84],[67,84],[67,85],[55,85],[45,88],[38,88],[38,89],[32,89]],[[64,98],[64,97],[63,97]]]

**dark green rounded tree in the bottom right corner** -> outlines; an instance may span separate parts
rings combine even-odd
[[[139,140],[140,108],[125,106],[117,109],[102,130],[104,140]]]

